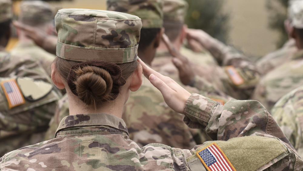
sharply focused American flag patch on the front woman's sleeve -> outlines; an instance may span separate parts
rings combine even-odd
[[[216,143],[196,152],[208,171],[236,170]]]

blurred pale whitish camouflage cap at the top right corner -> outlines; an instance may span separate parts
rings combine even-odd
[[[291,0],[288,13],[291,25],[297,29],[303,29],[303,0]]]

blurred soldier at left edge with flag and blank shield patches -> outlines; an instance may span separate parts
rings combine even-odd
[[[0,0],[0,155],[40,142],[60,98],[31,56],[4,51],[11,19],[12,2]]]

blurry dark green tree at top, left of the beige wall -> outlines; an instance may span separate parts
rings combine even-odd
[[[229,15],[223,13],[224,0],[186,0],[188,28],[203,29],[211,36],[226,42],[229,31]]]

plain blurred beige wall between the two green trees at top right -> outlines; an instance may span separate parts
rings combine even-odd
[[[278,32],[268,28],[265,0],[225,0],[230,12],[229,44],[247,54],[263,56],[275,50]]]

